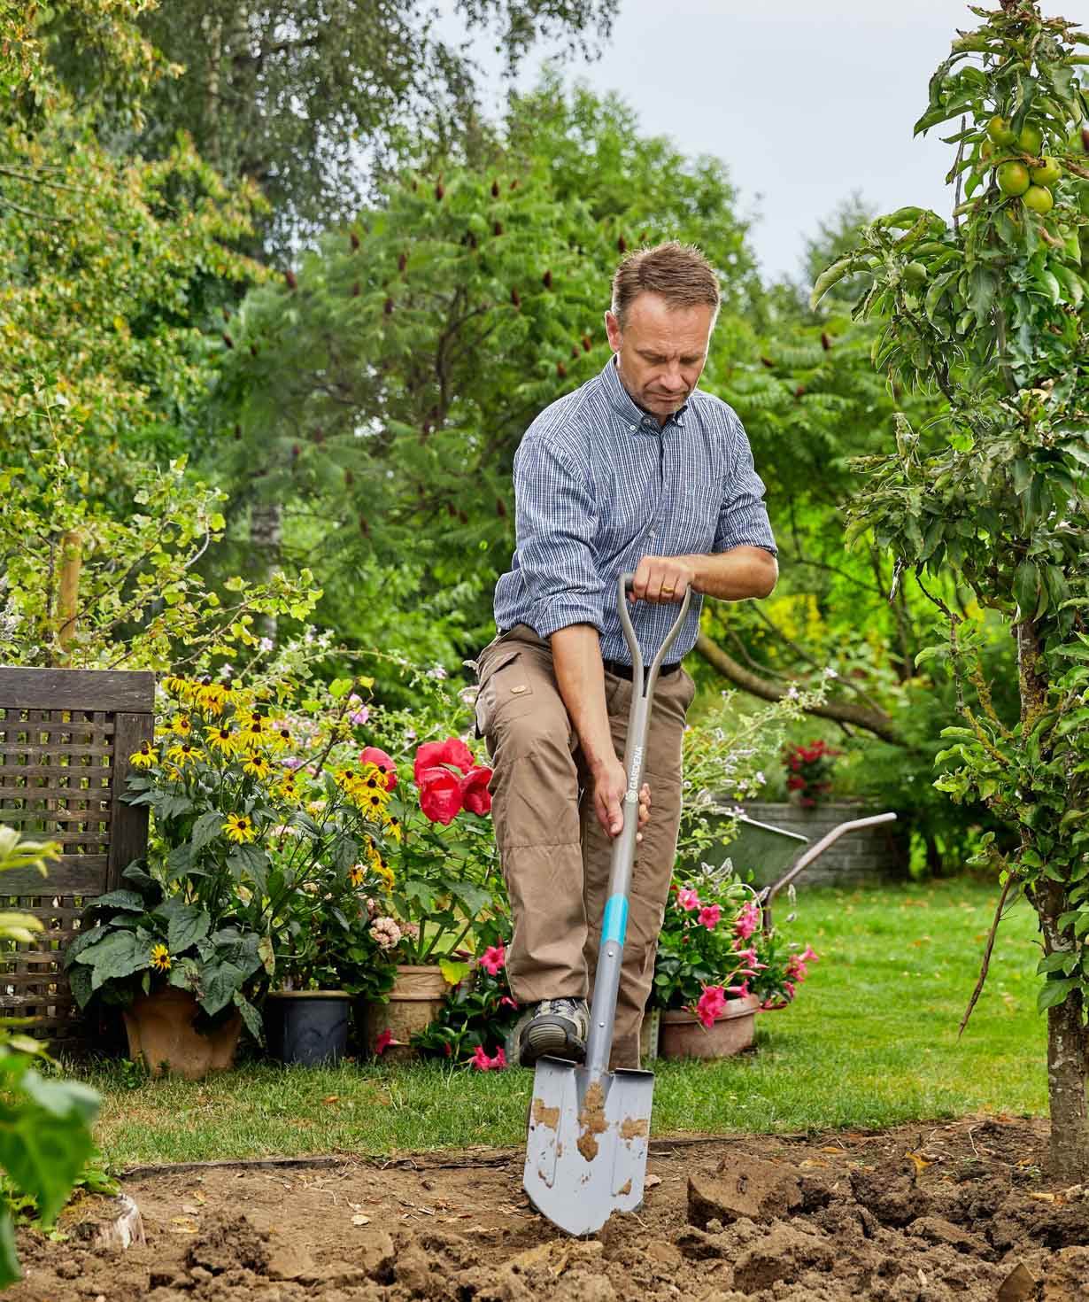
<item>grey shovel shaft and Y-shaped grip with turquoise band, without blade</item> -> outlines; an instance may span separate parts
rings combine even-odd
[[[601,944],[597,953],[597,976],[593,982],[593,1006],[589,1012],[589,1036],[587,1038],[585,1048],[585,1068],[589,1079],[595,1079],[608,1072],[609,1053],[613,1048],[613,1022],[617,1014],[617,993],[621,988],[621,963],[623,961],[625,935],[627,932],[627,897],[631,889],[631,870],[635,863],[635,836],[639,831],[639,788],[643,783],[647,734],[651,725],[651,702],[665,654],[677,641],[692,600],[692,590],[691,587],[686,587],[684,598],[680,602],[680,612],[673,628],[666,634],[658,654],[654,656],[644,682],[643,652],[627,609],[627,594],[631,591],[634,582],[634,574],[621,574],[617,585],[621,624],[623,625],[625,638],[631,651],[631,712],[628,713],[627,743],[625,746],[627,792],[623,799],[623,829],[613,842],[609,898],[605,902]]]

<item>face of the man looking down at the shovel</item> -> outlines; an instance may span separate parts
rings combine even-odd
[[[621,383],[644,410],[665,421],[688,401],[706,362],[714,324],[709,303],[670,307],[661,294],[643,293],[628,305],[623,329],[605,312]]]

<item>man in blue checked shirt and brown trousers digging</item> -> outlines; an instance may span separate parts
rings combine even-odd
[[[778,577],[740,421],[696,388],[718,306],[718,280],[697,249],[631,254],[605,314],[614,357],[546,408],[515,454],[517,548],[496,586],[498,635],[477,660],[476,717],[514,915],[507,973],[519,1003],[535,1005],[519,1046],[526,1066],[545,1053],[585,1053],[627,785],[632,671],[618,575],[635,573],[631,617],[645,664],[686,587],[693,600],[654,693],[613,1069],[639,1066],[677,854],[680,738],[695,694],[680,658],[696,641],[704,595],[766,596]]]

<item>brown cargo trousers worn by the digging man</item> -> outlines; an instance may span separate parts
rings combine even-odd
[[[613,840],[601,828],[579,738],[556,681],[549,642],[526,624],[480,652],[477,730],[492,758],[492,822],[510,896],[507,975],[519,1004],[588,999],[609,887]],[[639,1030],[654,974],[680,824],[680,738],[695,695],[684,669],[661,676],[644,780],[651,819],[636,849],[612,1068],[639,1066]],[[605,703],[623,762],[632,685],[605,673]]]

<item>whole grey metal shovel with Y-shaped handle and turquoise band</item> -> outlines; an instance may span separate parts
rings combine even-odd
[[[635,862],[651,700],[662,659],[680,631],[692,594],[686,589],[680,613],[654,656],[644,685],[643,655],[626,600],[634,579],[634,574],[621,574],[617,594],[631,651],[631,715],[625,749],[627,793],[623,831],[613,842],[585,1065],[576,1066],[557,1057],[537,1060],[522,1178],[537,1211],[569,1234],[593,1234],[613,1212],[630,1212],[639,1206],[651,1141],[654,1073],[628,1068],[610,1072],[609,1053],[627,931],[627,894]]]

